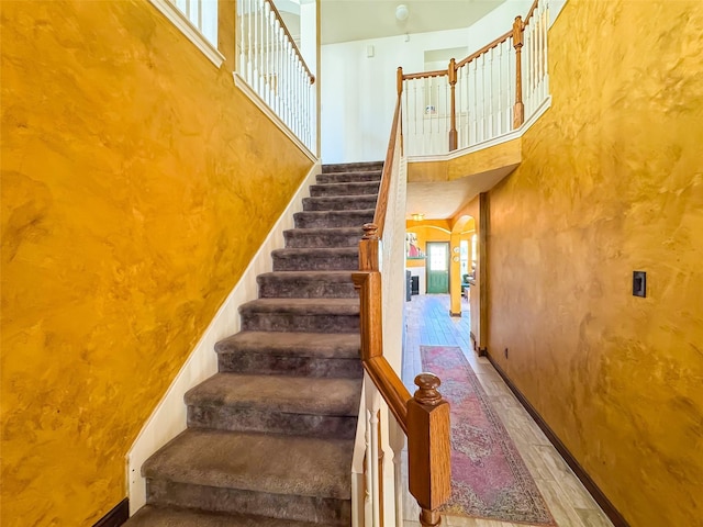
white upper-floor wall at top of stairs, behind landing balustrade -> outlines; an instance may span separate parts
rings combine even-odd
[[[565,0],[551,3],[554,21]],[[426,51],[462,46],[469,53],[480,49],[510,31],[515,16],[525,16],[531,5],[532,0],[509,0],[462,30],[322,46],[322,161],[382,160],[395,105],[398,67],[405,74],[423,71]],[[372,57],[367,56],[369,46]]]

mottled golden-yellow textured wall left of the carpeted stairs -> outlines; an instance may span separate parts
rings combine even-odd
[[[146,1],[0,9],[0,524],[89,526],[312,162]]]

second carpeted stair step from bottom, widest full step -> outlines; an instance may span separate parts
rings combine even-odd
[[[147,504],[350,523],[354,441],[187,429],[142,467]]]

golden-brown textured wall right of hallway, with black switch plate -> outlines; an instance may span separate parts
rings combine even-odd
[[[550,42],[490,193],[489,352],[631,525],[701,526],[703,2],[571,0]]]

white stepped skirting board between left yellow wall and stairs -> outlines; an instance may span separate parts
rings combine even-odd
[[[186,429],[185,393],[217,372],[215,343],[239,330],[239,305],[258,298],[256,277],[272,269],[271,250],[283,246],[283,231],[293,227],[293,214],[302,210],[302,199],[309,195],[309,188],[320,172],[321,165],[316,162],[132,444],[126,456],[130,515],[146,503],[142,466],[156,450]]]

